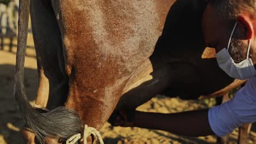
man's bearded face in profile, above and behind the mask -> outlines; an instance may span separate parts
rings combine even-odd
[[[202,17],[202,31],[205,38],[205,43],[209,47],[216,49],[216,52],[227,48],[232,29],[235,26],[230,25],[227,20],[223,20],[216,9],[210,4],[207,5]],[[237,27],[234,35],[237,35]],[[238,40],[232,37],[229,46],[230,56],[234,59],[235,63],[239,63],[246,59],[246,51],[248,40]]]

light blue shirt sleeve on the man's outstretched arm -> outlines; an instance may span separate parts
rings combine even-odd
[[[211,129],[218,136],[225,136],[242,124],[256,121],[256,78],[248,80],[245,87],[230,101],[214,106],[208,111]]]

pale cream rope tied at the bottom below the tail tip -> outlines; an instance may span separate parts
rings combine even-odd
[[[78,140],[81,139],[81,141],[84,141],[84,144],[87,144],[87,137],[90,136],[90,135],[94,135],[97,139],[98,139],[98,142],[100,144],[104,144],[103,140],[102,140],[102,137],[101,137],[101,134],[95,129],[95,128],[92,128],[92,127],[88,127],[88,125],[84,125],[84,137],[83,139],[81,139],[81,134],[78,133],[78,134],[75,134],[73,136],[71,136],[68,140],[67,140],[67,144],[75,144],[75,142],[78,142]]]

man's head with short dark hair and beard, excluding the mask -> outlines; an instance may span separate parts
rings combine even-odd
[[[249,58],[256,64],[256,0],[208,0],[202,18],[205,42],[217,52],[228,47],[236,22],[229,53],[235,63],[245,60],[252,39]]]

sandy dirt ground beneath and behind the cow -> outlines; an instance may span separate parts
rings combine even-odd
[[[9,41],[5,40],[8,44]],[[28,45],[33,46],[31,35],[28,38]],[[14,50],[15,51],[15,50]],[[28,99],[34,102],[38,75],[36,58],[33,49],[27,49],[25,61],[25,85]],[[0,50],[0,144],[22,143],[20,129],[24,122],[18,111],[17,104],[13,97],[15,70],[15,52],[8,52],[8,47]],[[213,100],[204,101],[183,101],[178,98],[166,98],[158,96],[148,103],[138,107],[141,111],[174,113],[196,109],[205,109],[212,106]],[[147,121],[147,119],[145,119]],[[255,128],[253,128],[255,129]],[[216,136],[207,137],[184,137],[167,133],[160,130],[149,130],[140,128],[111,127],[106,123],[101,130],[104,143],[216,143]],[[255,143],[256,133],[251,131],[249,143]],[[237,130],[230,135],[229,143],[236,143]]]

